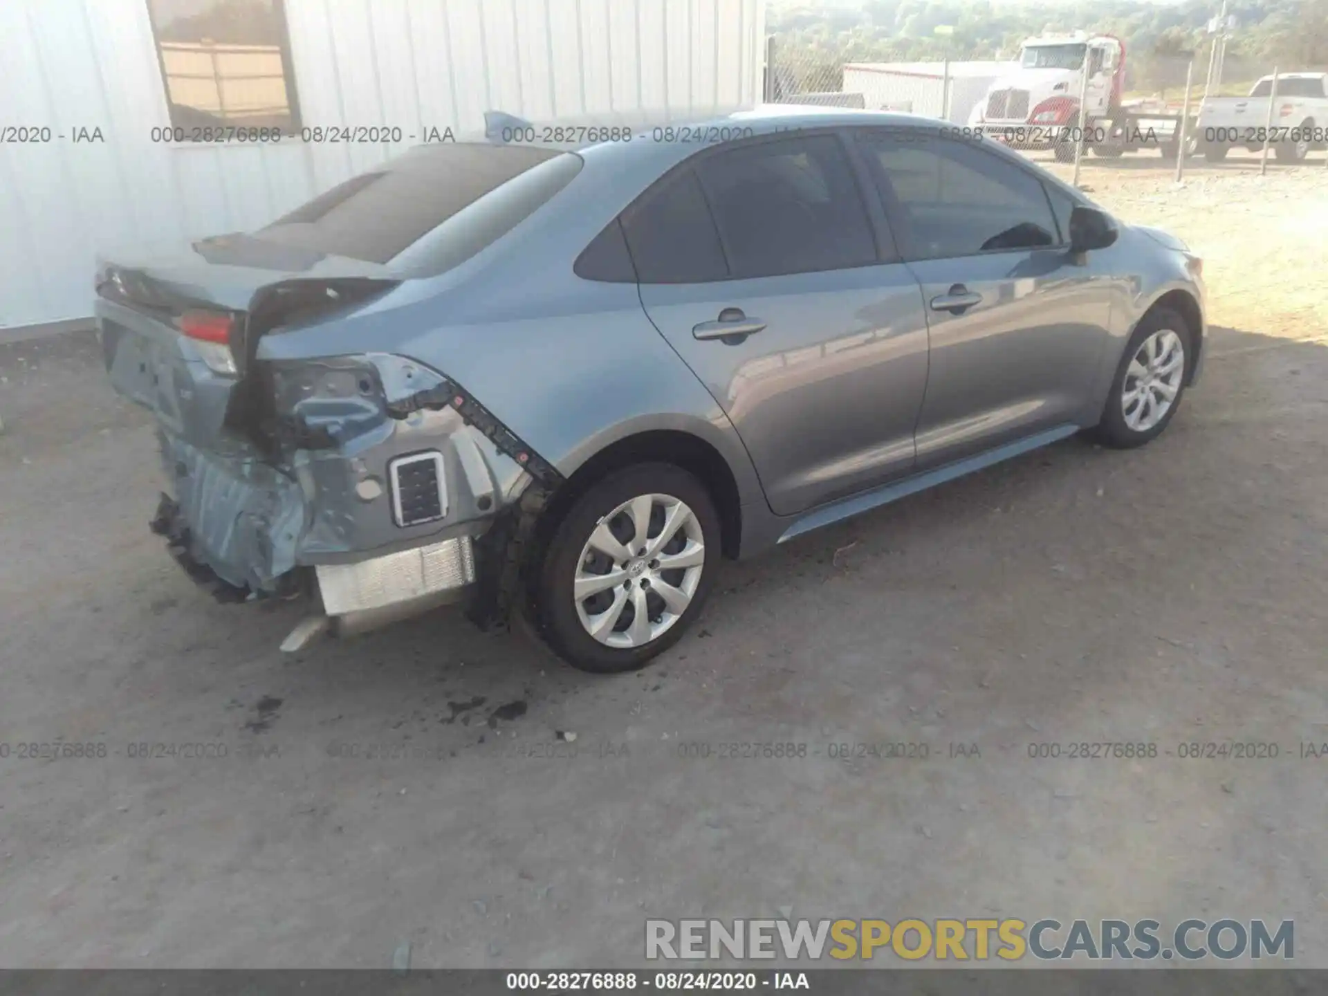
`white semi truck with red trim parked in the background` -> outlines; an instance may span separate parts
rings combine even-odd
[[[1114,35],[1032,37],[1020,46],[1016,66],[992,82],[969,114],[968,125],[981,134],[1020,149],[1050,149],[1060,162],[1072,161],[1081,141],[1105,158],[1141,149],[1158,149],[1167,158],[1179,153],[1179,113],[1122,100],[1125,42]]]

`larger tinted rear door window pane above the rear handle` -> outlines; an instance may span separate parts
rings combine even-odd
[[[697,166],[733,278],[869,266],[876,246],[833,135],[733,149]]]

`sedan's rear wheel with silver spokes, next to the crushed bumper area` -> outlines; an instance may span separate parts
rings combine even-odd
[[[720,517],[672,463],[610,474],[563,515],[535,580],[540,636],[580,671],[635,671],[681,639],[710,592]]]

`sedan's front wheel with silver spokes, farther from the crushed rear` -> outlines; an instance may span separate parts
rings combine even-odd
[[[1181,406],[1194,365],[1194,332],[1179,312],[1155,308],[1130,336],[1093,437],[1134,449],[1155,440]]]

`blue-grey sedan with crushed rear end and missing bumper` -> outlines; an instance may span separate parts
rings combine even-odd
[[[220,599],[307,600],[288,649],[463,602],[624,671],[721,556],[1082,429],[1147,442],[1198,376],[1198,260],[939,124],[554,147],[498,118],[256,232],[104,260],[153,531]]]

